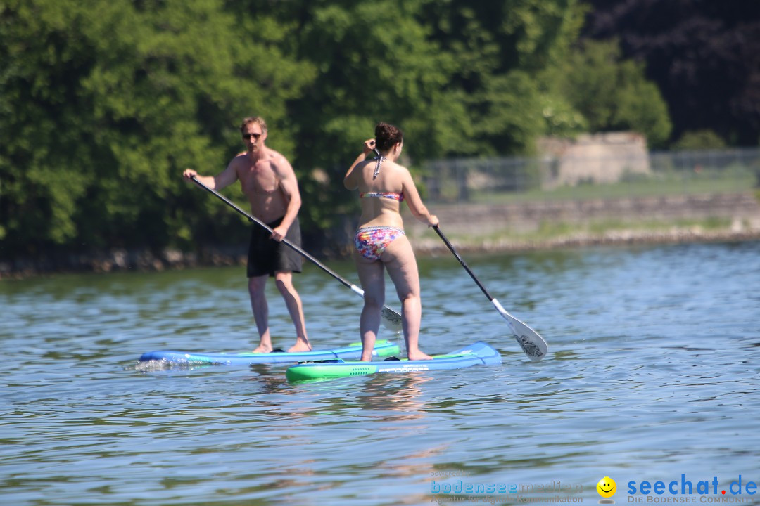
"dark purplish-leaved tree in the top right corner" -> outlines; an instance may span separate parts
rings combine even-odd
[[[760,2],[590,0],[584,37],[619,37],[645,62],[670,110],[674,139],[714,130],[732,145],[760,142]]]

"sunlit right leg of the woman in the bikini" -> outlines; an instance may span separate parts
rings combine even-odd
[[[426,360],[431,358],[420,350],[420,324],[423,308],[420,300],[420,274],[414,258],[412,245],[407,236],[396,237],[380,257],[388,275],[396,287],[398,300],[401,300],[401,325],[404,328],[404,340],[407,342],[409,360]]]

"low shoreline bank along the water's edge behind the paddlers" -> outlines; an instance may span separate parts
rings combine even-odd
[[[470,254],[520,253],[634,244],[686,244],[760,240],[760,194],[708,193],[435,206],[442,230]],[[417,256],[448,254],[442,240],[404,209],[404,229]],[[350,229],[328,234],[344,247],[309,246],[320,259],[350,259]],[[317,234],[312,237],[325,237]],[[306,236],[305,236],[306,239]],[[309,248],[315,248],[309,250]],[[0,281],[64,273],[160,272],[245,265],[247,244],[203,245],[193,252],[112,249],[38,259],[0,259]],[[308,261],[307,261],[308,263]]]

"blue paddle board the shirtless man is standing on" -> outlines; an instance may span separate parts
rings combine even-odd
[[[376,341],[375,349],[372,350],[374,357],[388,357],[399,353],[397,344],[389,341]],[[352,343],[346,347],[334,348],[332,350],[312,350],[298,353],[287,353],[287,351],[273,351],[268,354],[225,354],[225,353],[197,353],[195,351],[149,351],[140,357],[140,362],[148,360],[162,360],[165,363],[176,363],[178,365],[243,365],[247,366],[253,363],[296,363],[306,360],[339,360],[344,358],[359,358],[362,356],[362,344]]]

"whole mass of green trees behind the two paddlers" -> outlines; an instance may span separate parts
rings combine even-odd
[[[641,67],[571,53],[585,11],[578,0],[6,0],[0,256],[239,244],[241,219],[180,174],[223,170],[252,114],[296,169],[307,235],[355,215],[341,180],[378,121],[404,130],[415,172],[529,152],[537,136],[586,125],[662,137]],[[237,185],[226,193],[245,200]]]

